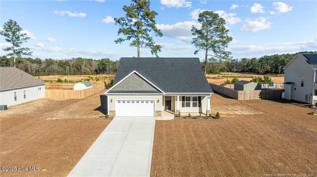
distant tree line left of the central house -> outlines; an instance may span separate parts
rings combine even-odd
[[[51,58],[16,58],[16,67],[32,75],[91,75],[110,74],[118,69],[119,61],[108,58],[93,60],[88,58],[72,58],[70,60],[53,60]],[[13,57],[0,57],[1,67],[13,67]]]

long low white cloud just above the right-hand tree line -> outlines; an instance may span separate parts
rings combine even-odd
[[[246,56],[253,53],[254,56],[281,54],[281,53],[296,53],[299,51],[316,51],[317,39],[298,42],[278,42],[267,43],[264,45],[243,45],[232,47],[230,51],[233,55]]]

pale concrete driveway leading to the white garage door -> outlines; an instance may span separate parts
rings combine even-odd
[[[154,128],[155,117],[114,117],[68,176],[150,176]]]

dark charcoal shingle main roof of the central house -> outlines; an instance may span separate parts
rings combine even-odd
[[[199,58],[121,58],[114,84],[134,70],[165,93],[212,93]]]

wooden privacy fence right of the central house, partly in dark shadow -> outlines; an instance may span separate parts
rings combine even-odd
[[[263,89],[252,91],[238,91],[220,85],[210,83],[213,91],[229,96],[237,100],[273,100],[281,99],[283,89]]]

